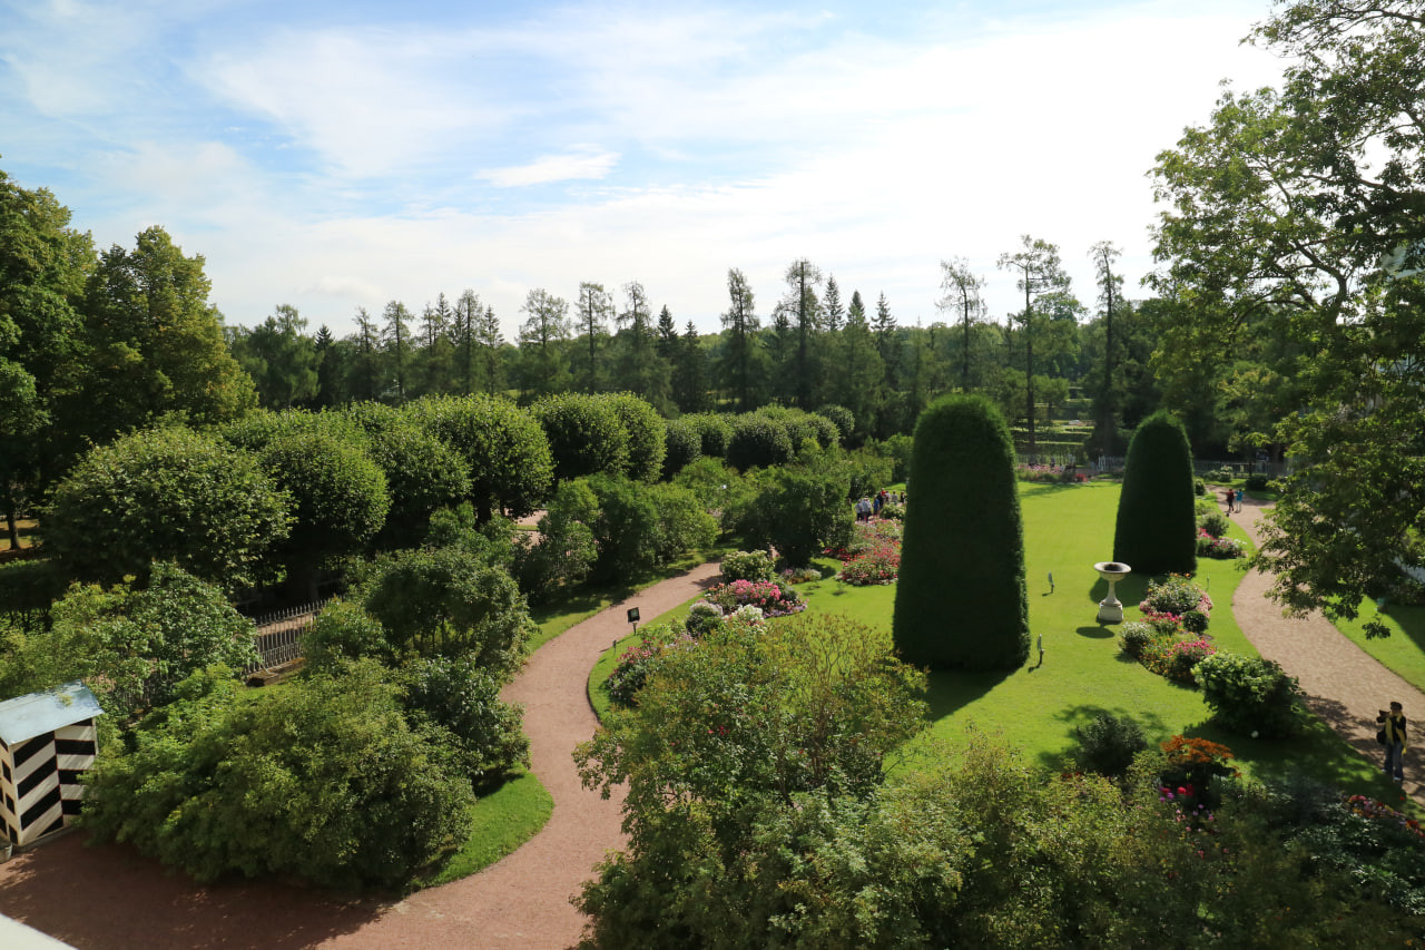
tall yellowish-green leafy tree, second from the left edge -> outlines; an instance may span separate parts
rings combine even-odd
[[[160,227],[142,231],[133,251],[114,245],[100,257],[84,292],[83,371],[67,399],[67,432],[103,442],[170,414],[215,424],[256,404],[208,302],[202,265]]]

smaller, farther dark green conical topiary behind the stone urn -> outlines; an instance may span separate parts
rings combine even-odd
[[[1193,449],[1170,412],[1143,419],[1129,442],[1113,559],[1140,575],[1197,571]]]

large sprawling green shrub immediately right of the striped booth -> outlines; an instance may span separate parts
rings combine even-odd
[[[375,663],[255,702],[194,673],[90,773],[81,822],[200,882],[400,887],[465,839],[470,786]]]

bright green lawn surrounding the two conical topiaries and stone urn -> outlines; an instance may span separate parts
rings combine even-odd
[[[1117,628],[1094,619],[1107,583],[1093,569],[1094,562],[1113,555],[1116,484],[1022,484],[1020,498],[1030,635],[1035,639],[1043,635],[1045,663],[1032,669],[1037,663],[1037,652],[1032,649],[1030,665],[1012,673],[933,673],[931,723],[908,750],[908,762],[932,749],[962,746],[966,729],[973,726],[1000,733],[1027,759],[1057,770],[1066,763],[1064,753],[1076,745],[1074,727],[1100,712],[1112,712],[1137,719],[1151,740],[1184,733],[1221,742],[1235,752],[1244,772],[1258,777],[1302,770],[1322,782],[1409,807],[1399,802],[1396,786],[1381,780],[1377,766],[1354,753],[1325,725],[1315,723],[1305,736],[1285,743],[1226,733],[1208,722],[1200,692],[1156,676],[1119,653]],[[1247,541],[1235,525],[1230,531],[1231,536]],[[1208,632],[1218,649],[1255,656],[1231,615],[1231,595],[1243,578],[1240,565],[1240,561],[1203,558],[1197,581],[1214,601]],[[1119,599],[1129,619],[1139,616],[1137,603],[1147,581],[1130,575],[1119,583]],[[893,585],[854,588],[819,581],[798,591],[807,598],[809,612],[844,613],[875,626],[891,623]],[[687,605],[680,609],[685,612]],[[953,613],[955,606],[946,603],[946,623],[953,623]],[[590,675],[596,710],[607,708],[601,683],[633,639],[608,650]]]

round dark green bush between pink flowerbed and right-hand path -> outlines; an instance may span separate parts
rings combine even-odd
[[[1203,699],[1224,727],[1267,739],[1300,732],[1297,679],[1275,660],[1217,653],[1197,665],[1196,676]]]

